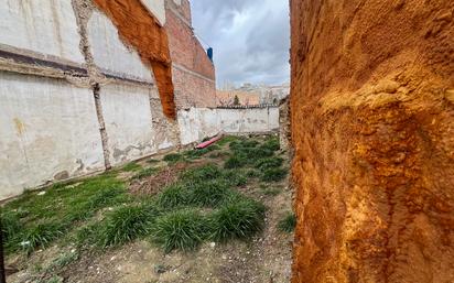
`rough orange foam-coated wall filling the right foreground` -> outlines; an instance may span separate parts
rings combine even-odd
[[[291,0],[293,282],[454,282],[454,2]]]

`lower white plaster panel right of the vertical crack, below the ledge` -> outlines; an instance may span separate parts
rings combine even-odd
[[[150,109],[151,89],[129,85],[101,87],[110,163],[118,165],[156,152]]]

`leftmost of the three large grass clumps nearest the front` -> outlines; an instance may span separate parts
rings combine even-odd
[[[149,233],[159,210],[152,205],[125,206],[109,213],[96,235],[100,247],[118,246]]]

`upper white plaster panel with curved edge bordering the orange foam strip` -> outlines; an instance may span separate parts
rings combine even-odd
[[[154,81],[151,69],[142,63],[134,50],[125,46],[117,28],[104,13],[95,11],[91,14],[88,39],[95,64],[101,69],[129,78]]]

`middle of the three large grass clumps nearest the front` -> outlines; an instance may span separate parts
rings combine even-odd
[[[152,238],[165,252],[175,249],[191,251],[206,239],[205,222],[196,210],[176,210],[156,219]]]

